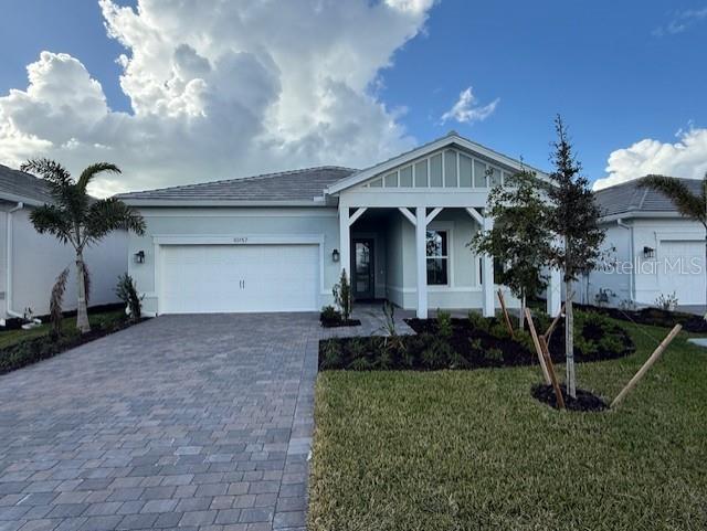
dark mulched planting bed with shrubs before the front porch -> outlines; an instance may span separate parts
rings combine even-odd
[[[416,336],[331,338],[319,342],[319,370],[440,370],[516,367],[537,363],[528,332],[511,338],[500,320],[469,314],[468,319],[408,319]],[[549,319],[536,320],[545,331]],[[623,328],[594,312],[576,315],[578,362],[621,358],[635,347]],[[564,360],[564,332],[560,323],[550,340],[552,360]]]

